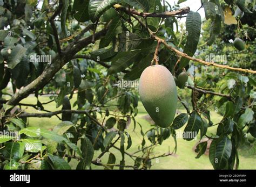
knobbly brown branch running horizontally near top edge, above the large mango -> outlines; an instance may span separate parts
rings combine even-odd
[[[133,14],[133,15],[137,15],[137,16],[141,16],[141,17],[157,17],[157,18],[167,18],[167,17],[173,17],[176,15],[185,15],[186,13],[190,12],[190,8],[189,7],[185,7],[179,10],[175,10],[175,11],[165,11],[165,12],[161,12],[161,13],[156,13],[156,12],[139,12],[136,9],[130,9],[130,8],[126,8],[122,5],[119,4],[115,4],[113,6],[116,10],[120,10],[123,12],[126,12],[127,14]]]

